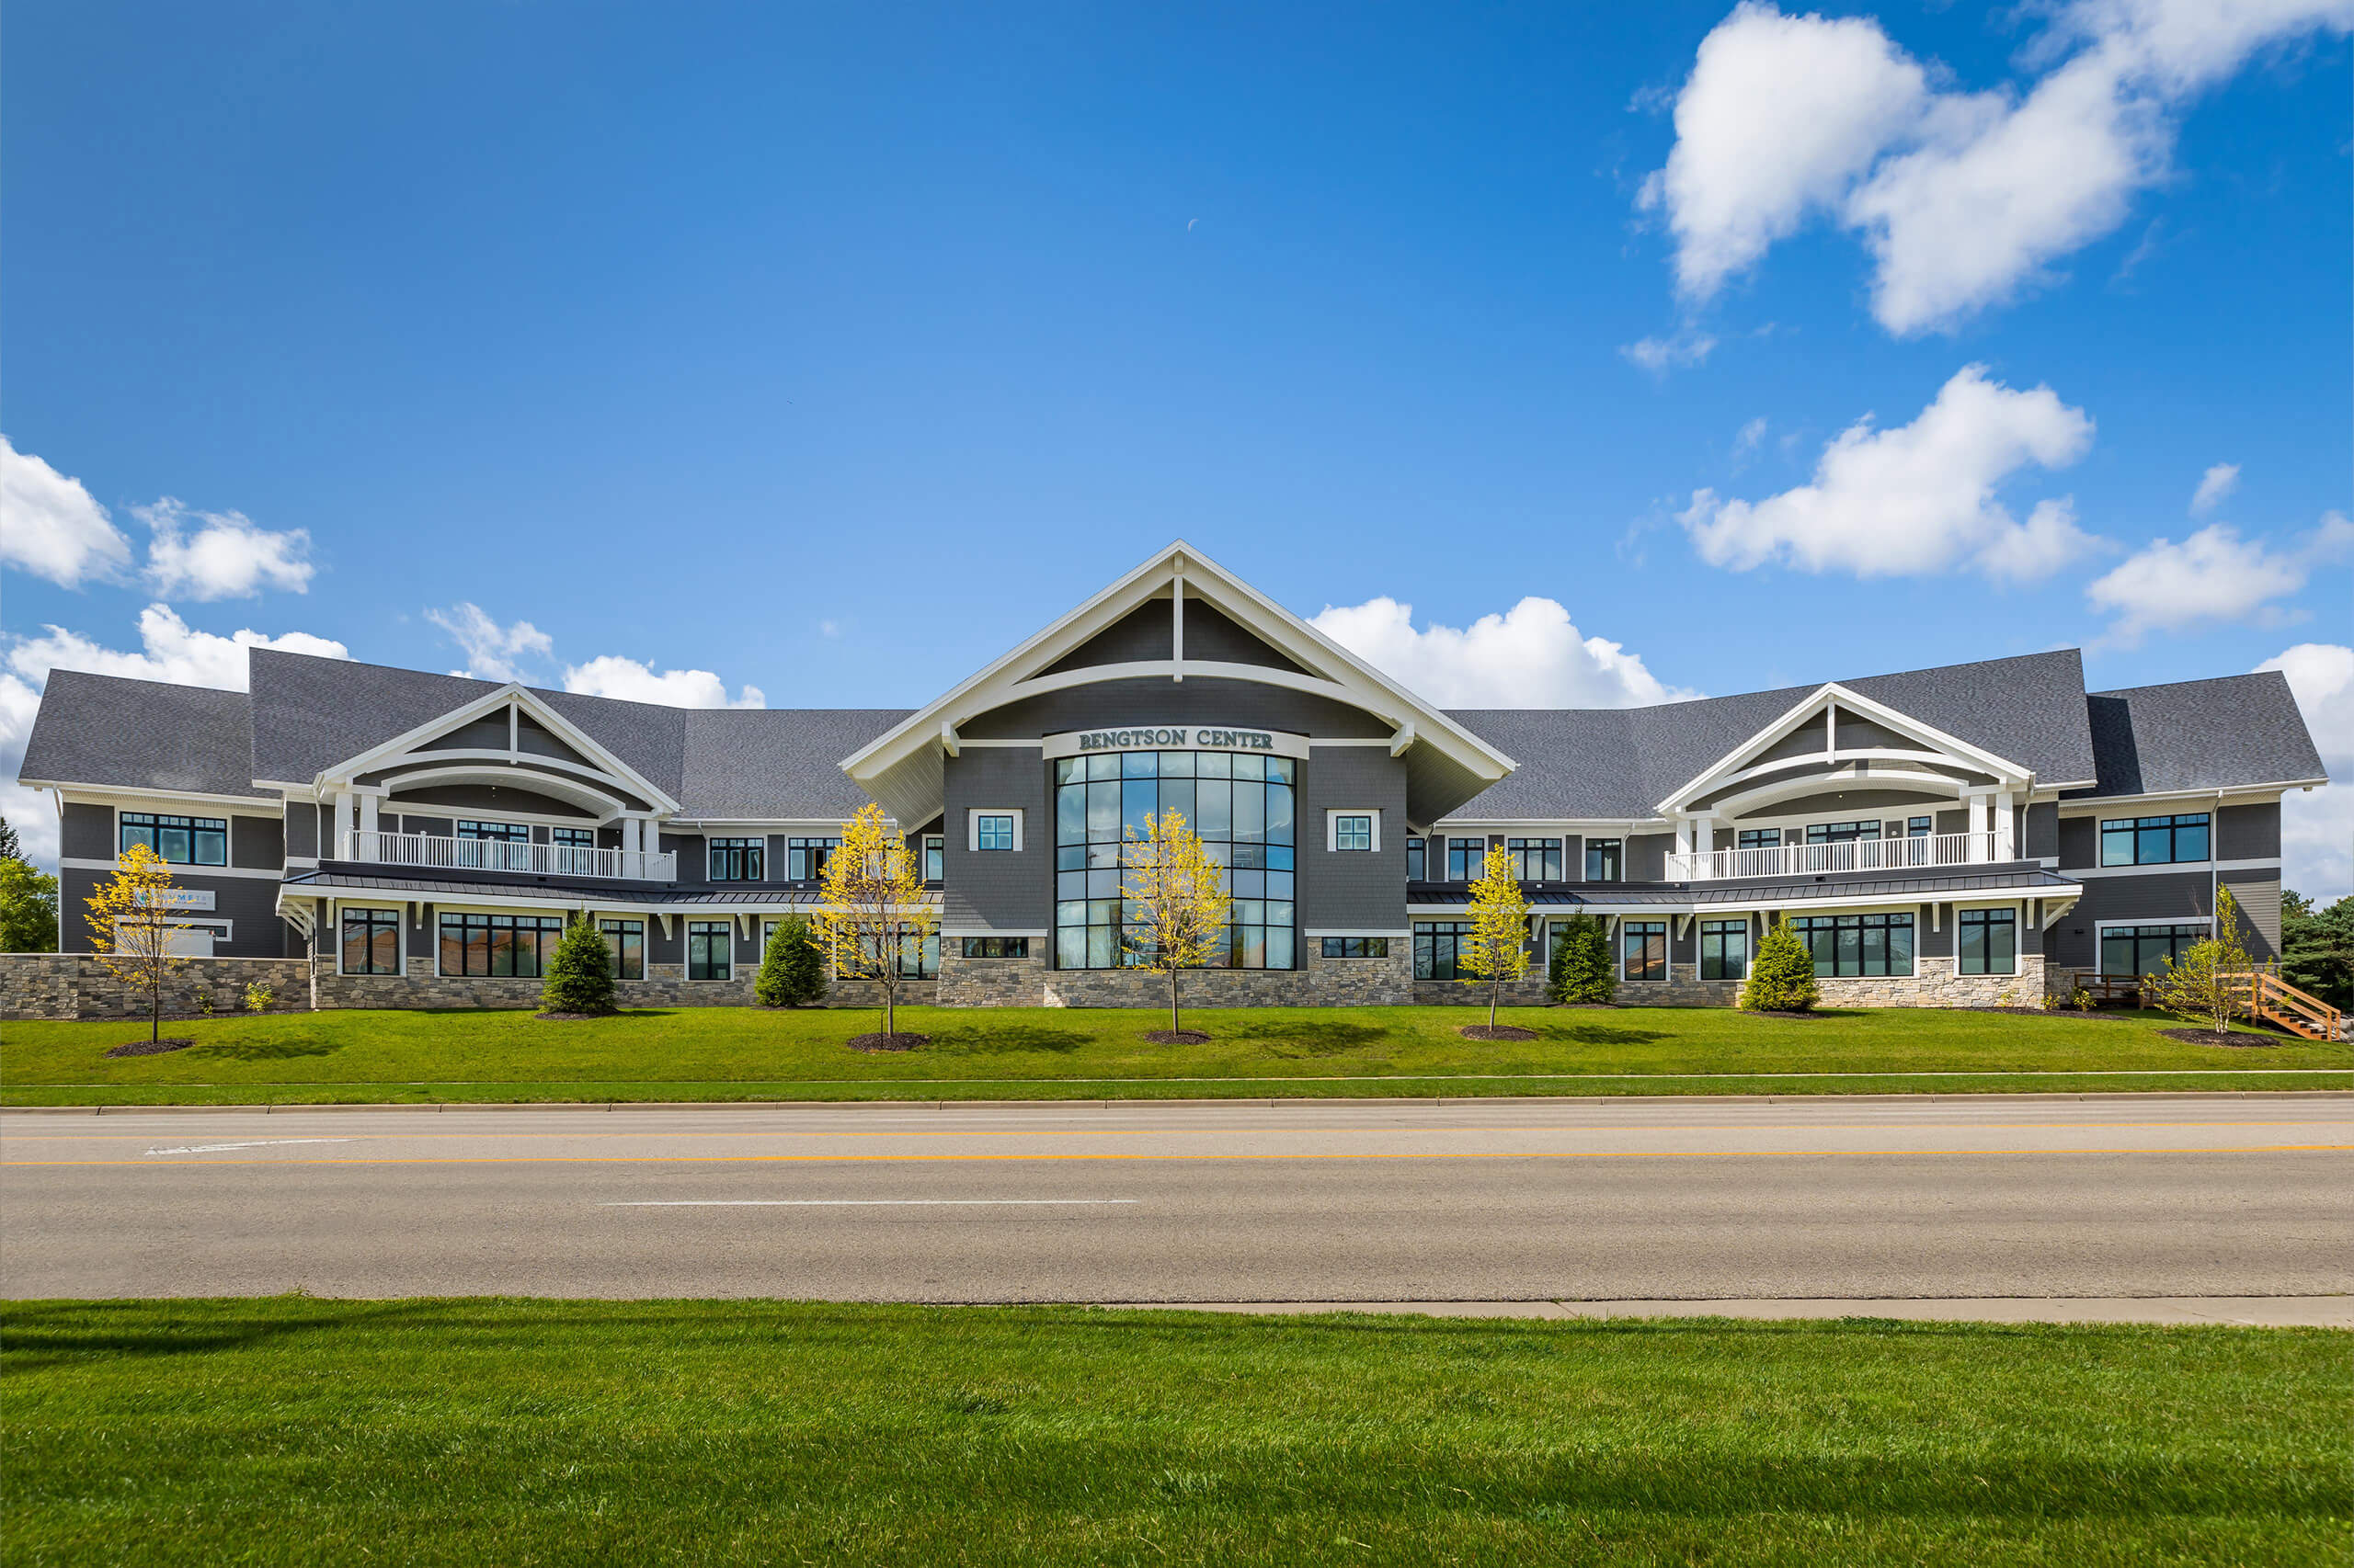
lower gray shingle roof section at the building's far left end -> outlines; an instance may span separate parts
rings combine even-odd
[[[254,789],[252,749],[245,692],[56,669],[19,777],[268,800]]]

